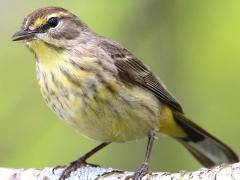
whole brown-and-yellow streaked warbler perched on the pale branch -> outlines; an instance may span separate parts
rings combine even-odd
[[[191,122],[164,84],[130,51],[91,31],[59,7],[28,15],[13,41],[24,40],[36,57],[37,80],[60,119],[102,144],[65,167],[64,179],[112,142],[148,137],[141,179],[157,132],[178,142],[205,167],[238,161],[221,141]]]

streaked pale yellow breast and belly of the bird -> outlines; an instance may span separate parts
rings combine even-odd
[[[149,91],[128,86],[111,74],[37,65],[48,106],[82,134],[99,141],[128,141],[158,130],[161,104]],[[68,67],[68,68],[66,68]]]

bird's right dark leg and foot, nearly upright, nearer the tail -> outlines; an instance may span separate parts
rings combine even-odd
[[[147,149],[145,152],[144,161],[140,166],[140,168],[133,174],[133,176],[129,176],[126,179],[132,178],[132,180],[141,180],[142,177],[148,173],[148,160],[152,151],[154,139],[155,139],[155,133],[154,131],[150,131],[148,135],[148,143],[147,143]]]

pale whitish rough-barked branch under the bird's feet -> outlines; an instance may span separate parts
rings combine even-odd
[[[11,168],[0,168],[0,179],[4,180],[57,180],[63,169],[55,170],[55,174],[52,173],[52,168],[44,168],[43,170],[38,169],[11,169]],[[77,171],[71,174],[68,179],[88,179],[88,180],[111,180],[118,179],[123,180],[127,176],[132,175],[133,172],[119,171],[111,168],[101,167],[81,167]],[[240,180],[240,163],[230,165],[220,165],[212,169],[202,168],[194,172],[181,171],[179,173],[168,173],[168,172],[154,172],[147,174],[143,179],[234,179]]]

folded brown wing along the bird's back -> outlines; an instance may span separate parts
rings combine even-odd
[[[106,39],[101,41],[98,46],[114,59],[121,80],[150,90],[160,101],[178,112],[183,112],[180,104],[163,83],[130,51]]]

